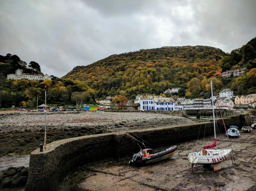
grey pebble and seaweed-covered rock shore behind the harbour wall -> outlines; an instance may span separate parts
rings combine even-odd
[[[48,112],[47,143],[56,140],[106,132],[112,125],[175,122],[191,123],[184,117],[146,112]],[[8,153],[29,153],[38,148],[44,138],[44,113],[0,113],[0,156]]]

